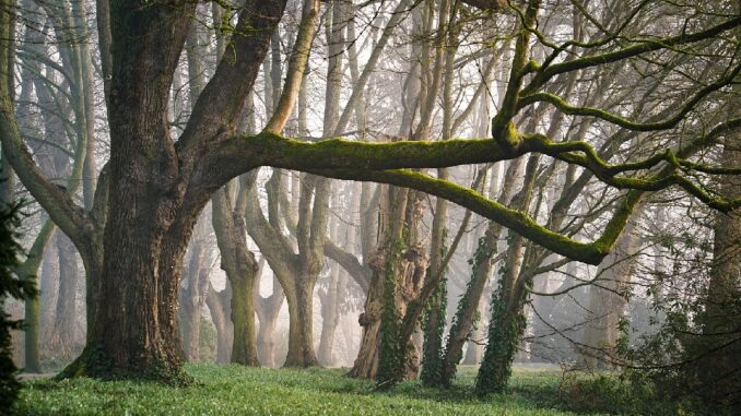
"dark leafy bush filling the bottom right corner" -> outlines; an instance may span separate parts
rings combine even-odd
[[[622,376],[651,387],[654,395],[644,402],[670,401],[677,414],[733,415],[741,401],[741,297],[716,302],[725,314],[711,326],[705,296],[660,309],[664,313],[660,329],[619,350],[636,366]]]

